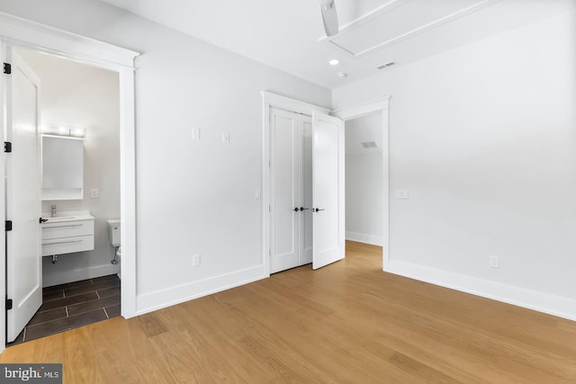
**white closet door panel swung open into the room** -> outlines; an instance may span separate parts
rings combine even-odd
[[[344,121],[312,115],[312,268],[345,256]]]

